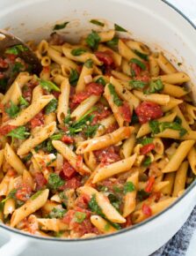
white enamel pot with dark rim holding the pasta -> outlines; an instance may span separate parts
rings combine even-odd
[[[3,3],[4,2],[4,3]],[[11,27],[24,38],[44,38],[51,33],[56,21],[72,21],[69,37],[78,37],[91,29],[88,20],[103,18],[126,27],[135,39],[145,41],[153,49],[164,49],[180,69],[196,84],[196,31],[192,24],[161,0],[19,0],[3,1],[1,27]],[[69,30],[66,28],[66,31]],[[196,87],[193,87],[193,90]],[[1,247],[1,256],[16,256],[20,252],[33,255],[68,256],[142,256],[155,252],[184,224],[196,200],[196,183],[163,213],[131,229],[110,236],[86,240],[61,240],[33,237],[1,224],[0,236],[8,240]],[[27,248],[28,247],[28,248]],[[27,249],[26,249],[27,248]],[[40,253],[40,254],[39,254]]]

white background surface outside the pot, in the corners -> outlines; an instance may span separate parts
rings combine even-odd
[[[167,0],[167,1],[169,3],[175,5],[178,8],[178,10],[185,13],[185,16],[187,16],[189,19],[191,19],[192,22],[196,25],[196,0]],[[1,7],[9,5],[9,2],[10,2],[9,0],[7,0],[7,1],[0,0],[0,10],[1,10]],[[17,2],[17,0],[16,0],[16,2]],[[195,255],[196,255],[196,230],[192,236],[191,243],[186,252],[186,256],[195,256]],[[3,255],[1,255],[1,256],[3,256]],[[4,256],[6,256],[6,255],[4,255]],[[179,256],[181,256],[181,255],[179,255]]]

